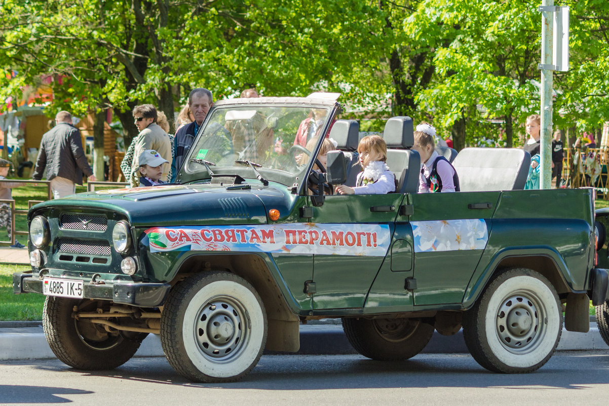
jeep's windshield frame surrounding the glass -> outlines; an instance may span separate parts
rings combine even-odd
[[[312,99],[312,98],[249,98],[249,99],[228,99],[221,100],[214,103],[214,105],[209,109],[205,120],[203,121],[197,135],[192,142],[192,145],[197,145],[199,143],[200,137],[205,132],[205,128],[209,125],[210,119],[214,116],[214,113],[219,109],[227,109],[230,107],[304,107],[310,109],[325,109],[328,110],[328,115],[324,119],[323,128],[321,134],[327,134],[331,123],[333,123],[336,116],[342,110],[341,105],[335,101],[330,99]],[[320,145],[322,143],[322,138],[318,140],[315,145],[314,151],[312,151],[311,156],[316,157],[317,153],[320,149]],[[287,148],[291,147],[287,146]],[[200,183],[206,182],[211,179],[210,174],[208,173],[205,167],[202,167],[200,170],[191,170],[189,169],[189,160],[195,157],[195,149],[189,149],[186,154],[185,160],[181,168],[178,170],[178,174],[176,177],[176,183]],[[294,183],[298,184],[298,194],[306,194],[306,179],[308,178],[308,174],[310,173],[312,166],[314,165],[315,160],[309,159],[307,165],[298,171],[297,173],[289,173],[287,171],[282,171],[281,169],[276,168],[258,168],[258,171],[268,179],[270,182],[278,182],[286,185],[287,187],[292,187]],[[252,168],[249,166],[214,166],[213,169],[214,174],[219,176],[228,175],[228,174],[236,174],[244,179],[247,182],[252,182],[253,184],[257,183],[261,185],[258,179],[256,179],[256,174],[252,171]]]

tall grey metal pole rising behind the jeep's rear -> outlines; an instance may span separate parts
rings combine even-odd
[[[552,183],[552,42],[554,27],[554,0],[541,2],[541,179],[540,189],[551,188]]]

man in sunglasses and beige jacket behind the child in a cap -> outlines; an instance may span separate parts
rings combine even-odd
[[[167,162],[171,162],[171,141],[169,135],[157,124],[157,109],[152,104],[136,105],[133,108],[133,119],[139,134],[133,141],[121,163],[121,171],[131,187],[139,185],[139,154],[147,149],[157,151]],[[167,182],[171,167],[163,164],[161,180]]]

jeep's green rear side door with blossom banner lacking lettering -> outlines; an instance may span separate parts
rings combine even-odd
[[[499,191],[412,193],[414,304],[460,304],[491,232]]]

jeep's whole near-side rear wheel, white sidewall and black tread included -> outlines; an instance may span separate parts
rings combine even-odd
[[[552,357],[563,326],[552,284],[531,269],[499,272],[463,315],[463,338],[474,359],[493,372],[525,373]]]

